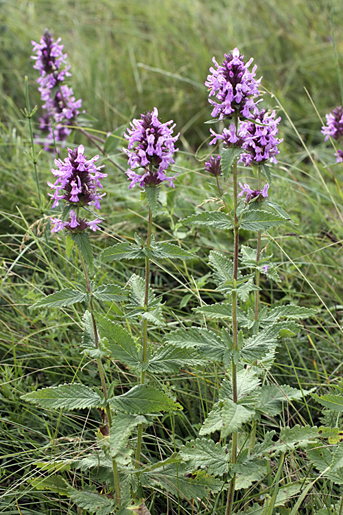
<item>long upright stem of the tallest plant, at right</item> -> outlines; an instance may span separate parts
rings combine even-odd
[[[235,113],[236,134],[238,133],[238,116]],[[233,288],[237,288],[238,276],[238,250],[239,250],[239,220],[237,218],[238,194],[237,194],[237,157],[233,161]],[[235,363],[235,353],[238,346],[238,326],[237,326],[237,292],[232,293],[233,306],[233,360],[232,360],[232,378],[233,378],[233,402],[237,403],[237,365]],[[237,463],[237,437],[238,433],[233,433],[233,448],[231,455],[231,464]],[[236,474],[230,481],[228,487],[228,500],[226,503],[226,515],[231,515],[233,511],[233,496],[235,494]]]

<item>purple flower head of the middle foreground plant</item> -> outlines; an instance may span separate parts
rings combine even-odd
[[[135,184],[141,187],[158,185],[163,181],[169,181],[169,186],[174,187],[174,176],[166,176],[165,170],[174,163],[174,152],[178,151],[174,143],[180,133],[172,136],[175,127],[173,120],[162,124],[158,119],[157,108],[141,115],[141,119],[134,119],[128,128],[128,148],[123,148],[128,155],[128,178],[131,180],[130,188]],[[143,168],[141,174],[134,172],[136,168]]]

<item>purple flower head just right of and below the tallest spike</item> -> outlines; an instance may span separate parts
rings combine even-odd
[[[283,141],[276,137],[279,134],[278,124],[281,117],[275,119],[275,111],[268,115],[265,109],[261,109],[255,111],[251,118],[255,119],[257,124],[241,122],[240,132],[244,137],[242,147],[246,152],[239,158],[239,163],[246,166],[265,163],[268,160],[277,163],[275,156],[280,153],[277,146]]]

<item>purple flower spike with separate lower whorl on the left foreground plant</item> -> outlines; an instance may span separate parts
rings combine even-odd
[[[104,165],[95,166],[98,159],[99,156],[87,159],[83,145],[79,145],[74,150],[68,148],[68,157],[64,161],[55,159],[57,169],[53,168],[51,172],[57,179],[54,184],[47,183],[51,190],[55,190],[54,194],[49,193],[49,196],[54,199],[53,208],[58,206],[60,201],[65,201],[75,208],[93,205],[96,209],[100,209],[100,199],[106,193],[100,193],[98,188],[102,189],[100,179],[107,177],[107,174],[99,171],[104,168]],[[97,224],[101,222],[99,218],[92,222],[77,218],[73,209],[69,214],[70,218],[67,222],[51,218],[51,223],[54,225],[51,232],[58,232],[64,228],[72,232],[82,232],[86,227],[96,231]]]

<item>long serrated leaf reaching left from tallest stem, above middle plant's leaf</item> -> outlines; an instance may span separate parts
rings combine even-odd
[[[198,352],[211,361],[223,362],[227,359],[229,349],[226,343],[214,332],[208,329],[189,328],[177,329],[170,332],[165,341],[181,349],[195,347]]]

